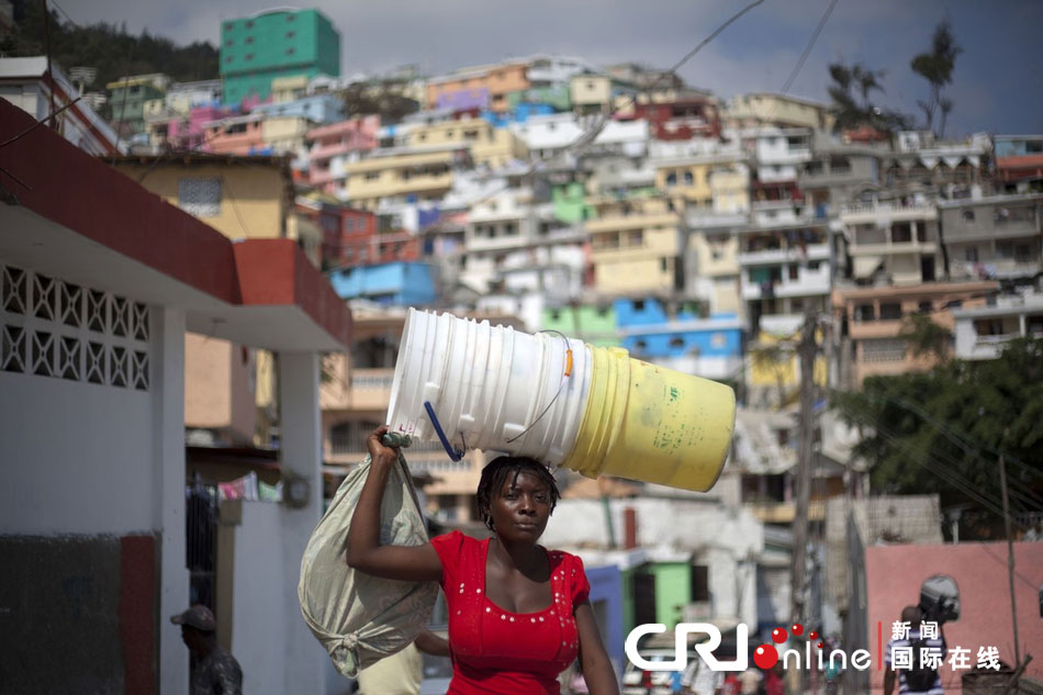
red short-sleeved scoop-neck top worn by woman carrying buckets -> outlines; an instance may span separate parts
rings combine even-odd
[[[558,674],[575,661],[580,647],[575,606],[591,593],[583,562],[545,550],[551,605],[512,613],[485,595],[489,540],[460,531],[431,539],[449,608],[452,682],[447,695],[559,695]]]

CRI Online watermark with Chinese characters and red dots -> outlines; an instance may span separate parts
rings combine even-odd
[[[877,630],[877,670],[885,666],[883,623],[876,624]],[[644,671],[683,671],[688,662],[688,635],[706,635],[705,641],[694,646],[695,652],[711,671],[745,671],[749,668],[747,654],[750,649],[750,629],[743,624],[736,627],[736,659],[721,661],[714,655],[714,650],[720,646],[720,630],[709,623],[681,623],[674,628],[674,658],[663,661],[648,661],[638,652],[638,641],[646,635],[660,635],[666,631],[661,623],[639,625],[627,636],[624,651],[630,662]],[[789,631],[794,637],[804,635],[804,626],[794,624]],[[896,671],[912,670],[919,661],[921,669],[937,670],[942,662],[947,662],[953,671],[972,668],[971,649],[954,647],[947,651],[947,659],[939,639],[938,623],[921,623],[919,630],[913,630],[909,623],[896,620],[891,624],[891,642],[887,646],[887,665],[894,665]],[[772,641],[782,644],[789,639],[783,628],[772,631]],[[849,658],[848,652],[841,649],[826,651],[826,643],[819,640],[818,632],[808,634],[804,644],[804,654],[797,649],[787,649],[780,658],[775,644],[764,643],[753,650],[753,663],[763,670],[773,668],[780,661],[784,669],[826,668],[855,669],[867,671],[872,668],[873,657],[866,649],[856,649]],[[919,653],[918,653],[919,652]],[[979,647],[977,651],[977,668],[998,671],[999,650],[996,647]]]

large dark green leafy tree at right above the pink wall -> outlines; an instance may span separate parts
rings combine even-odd
[[[961,538],[1001,537],[1000,451],[1012,513],[1043,508],[1043,339],[1013,340],[995,360],[871,377],[861,392],[834,392],[831,404],[862,428],[854,455],[876,492],[938,493],[943,507],[980,512],[962,520]]]

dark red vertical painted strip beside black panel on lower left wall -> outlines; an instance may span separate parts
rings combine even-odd
[[[122,537],[120,643],[123,647],[123,692],[126,695],[153,695],[157,692],[159,583],[156,574],[156,539],[152,536]]]

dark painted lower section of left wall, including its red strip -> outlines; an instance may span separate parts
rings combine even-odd
[[[154,536],[0,536],[0,692],[158,692]]]

